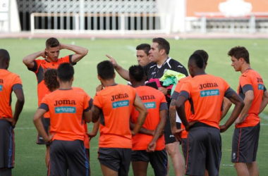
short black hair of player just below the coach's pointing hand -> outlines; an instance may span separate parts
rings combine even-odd
[[[102,61],[97,65],[97,73],[103,80],[114,78],[114,65],[110,61]]]

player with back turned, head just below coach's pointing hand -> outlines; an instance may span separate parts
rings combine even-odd
[[[100,117],[98,159],[102,174],[128,175],[132,135],[142,127],[147,110],[133,87],[114,82],[114,66],[110,61],[98,63],[97,73],[102,84],[96,89],[91,111],[92,122]],[[133,107],[139,115],[135,128],[130,131]]]

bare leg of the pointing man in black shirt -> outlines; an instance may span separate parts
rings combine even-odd
[[[179,150],[179,145],[179,142],[166,144],[166,151],[171,158],[173,170],[176,176],[184,175],[184,160]]]

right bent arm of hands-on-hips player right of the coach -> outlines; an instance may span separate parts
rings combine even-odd
[[[225,124],[219,126],[221,132],[225,132],[233,124],[244,107],[243,99],[241,99],[236,92],[233,92],[228,99],[235,104],[235,107],[233,108],[230,118],[225,122]]]

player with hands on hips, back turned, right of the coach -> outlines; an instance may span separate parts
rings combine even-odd
[[[219,175],[221,161],[221,135],[238,117],[243,108],[243,100],[221,77],[205,73],[204,59],[200,54],[192,54],[188,70],[193,77],[183,84],[176,101],[176,110],[188,133],[186,175]],[[229,120],[219,126],[221,106],[226,96],[236,106]],[[185,116],[185,101],[190,100],[193,115]]]

